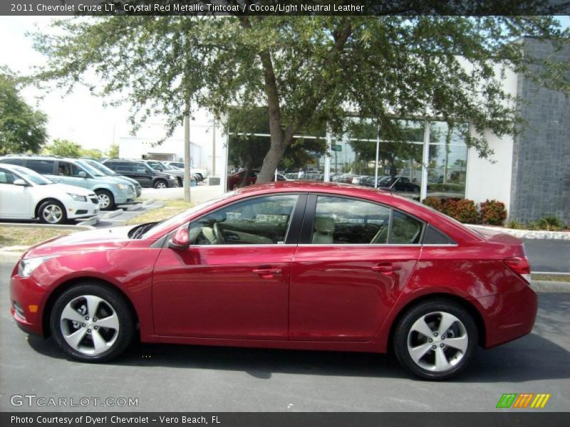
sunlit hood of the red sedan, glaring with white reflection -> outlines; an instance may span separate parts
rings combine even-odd
[[[131,228],[133,226],[100,228],[71,233],[68,236],[54,237],[32,246],[22,258],[123,248],[129,242],[128,232]]]

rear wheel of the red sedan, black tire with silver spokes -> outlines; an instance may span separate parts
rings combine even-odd
[[[445,331],[446,333],[441,336],[438,332],[438,327],[441,324],[437,322],[438,319],[440,322],[442,321],[443,315],[447,319],[455,317],[458,322],[452,323]],[[417,327],[412,330],[416,322],[420,322],[422,318],[432,331],[432,336],[429,339],[424,334],[415,332],[418,330]],[[465,336],[467,340],[465,340]],[[447,346],[445,339],[447,342],[450,342],[450,339],[455,339],[455,345],[460,339],[462,346],[465,346],[464,351]],[[449,300],[429,300],[421,302],[405,312],[394,330],[393,344],[395,355],[403,367],[423,379],[441,381],[450,379],[467,368],[477,348],[477,341],[477,325],[464,307]],[[408,344],[410,344],[411,349],[418,349],[417,354],[423,354],[423,349],[427,348],[423,358],[418,359],[418,362],[415,362],[410,355]],[[437,367],[437,359],[443,361],[440,366],[445,368]],[[437,371],[436,369],[441,370]]]

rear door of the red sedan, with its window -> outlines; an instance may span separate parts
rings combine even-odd
[[[423,223],[361,199],[311,195],[293,264],[289,339],[375,337],[420,255]]]

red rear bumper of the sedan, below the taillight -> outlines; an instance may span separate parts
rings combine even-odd
[[[485,323],[485,348],[529,334],[537,319],[538,295],[529,285],[513,292],[477,298]]]

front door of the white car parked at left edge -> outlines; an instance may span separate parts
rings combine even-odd
[[[0,217],[33,218],[32,186],[14,185],[20,176],[0,167]]]

